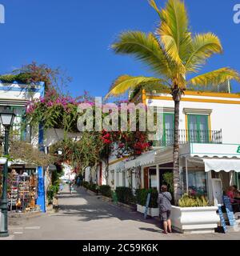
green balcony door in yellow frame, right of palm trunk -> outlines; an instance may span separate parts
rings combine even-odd
[[[190,143],[209,143],[208,115],[188,115],[188,139]]]

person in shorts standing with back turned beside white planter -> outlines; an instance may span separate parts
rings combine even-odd
[[[158,205],[161,221],[163,222],[163,234],[172,233],[172,224],[171,224],[171,200],[172,196],[167,191],[167,186],[162,185],[161,193],[158,194]]]

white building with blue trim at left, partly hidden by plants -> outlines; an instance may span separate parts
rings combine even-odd
[[[35,132],[32,127],[27,126],[22,129],[22,121],[26,113],[26,104],[32,99],[44,97],[45,84],[39,82],[35,85],[24,85],[18,82],[2,83],[0,82],[0,111],[8,107],[14,111],[16,117],[14,118],[13,138],[14,140],[23,141],[32,144],[34,147],[42,146],[44,141],[43,131]],[[0,124],[1,135],[3,135],[3,127]],[[46,211],[46,177],[45,170],[42,166],[36,166],[22,162],[21,159],[14,161],[9,166],[9,172],[22,174],[36,174],[38,175],[38,199],[37,205],[40,206],[42,212]]]

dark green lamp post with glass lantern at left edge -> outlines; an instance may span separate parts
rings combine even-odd
[[[0,118],[2,122],[2,126],[5,129],[5,138],[4,138],[4,154],[8,155],[8,147],[9,147],[9,133],[10,127],[14,123],[14,112],[9,109],[5,109],[0,113]],[[0,226],[0,237],[8,237],[8,227],[7,227],[7,175],[8,175],[8,162],[3,166],[3,178],[2,178],[2,198],[0,202],[0,209],[2,210],[1,214],[1,226]]]

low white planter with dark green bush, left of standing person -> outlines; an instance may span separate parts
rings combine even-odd
[[[158,208],[158,190],[136,190],[136,200],[137,200],[137,211],[144,214],[146,210],[146,199],[147,195],[150,196],[150,204],[147,214],[151,217],[159,216],[159,208]]]

